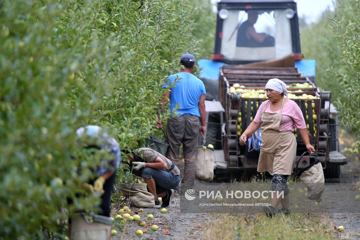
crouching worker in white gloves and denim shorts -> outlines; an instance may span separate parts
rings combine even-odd
[[[151,148],[136,149],[140,155],[131,152],[128,159],[135,170],[141,169],[141,177],[147,183],[148,191],[154,195],[154,208],[167,208],[170,206],[174,190],[180,183],[180,170],[172,161]],[[162,205],[158,200],[162,197]]]

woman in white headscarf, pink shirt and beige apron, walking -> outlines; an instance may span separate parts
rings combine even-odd
[[[300,132],[307,150],[312,154],[315,148],[310,144],[309,134],[300,107],[287,97],[286,84],[279,79],[270,79],[265,85],[266,95],[269,100],[263,102],[255,119],[240,136],[240,144],[245,145],[246,139],[251,136],[261,125],[261,147],[257,165],[258,172],[269,172],[273,175],[273,191],[284,191],[284,198],[270,201],[269,206],[264,206],[266,215],[272,217],[277,213],[276,208],[281,202],[279,212],[289,213],[289,189],[287,186],[288,175],[293,171],[296,159],[296,138],[293,134],[295,128]]]

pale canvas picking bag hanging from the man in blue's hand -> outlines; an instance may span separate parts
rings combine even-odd
[[[203,182],[209,182],[213,179],[214,154],[215,154],[215,150],[213,148],[198,146],[196,152],[196,168],[195,168],[196,179]]]

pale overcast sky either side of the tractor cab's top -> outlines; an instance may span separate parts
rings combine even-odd
[[[215,5],[220,0],[211,0]],[[321,13],[330,8],[334,10],[333,0],[295,0],[299,17],[306,17],[306,22],[316,22]],[[335,1],[335,0],[334,0]],[[215,8],[216,11],[216,8]]]

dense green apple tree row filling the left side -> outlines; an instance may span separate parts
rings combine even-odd
[[[64,237],[66,198],[101,158],[79,150],[77,128],[100,125],[121,149],[156,131],[166,76],[181,54],[199,52],[201,2],[0,1],[1,237]],[[75,205],[97,202],[93,194]]]

